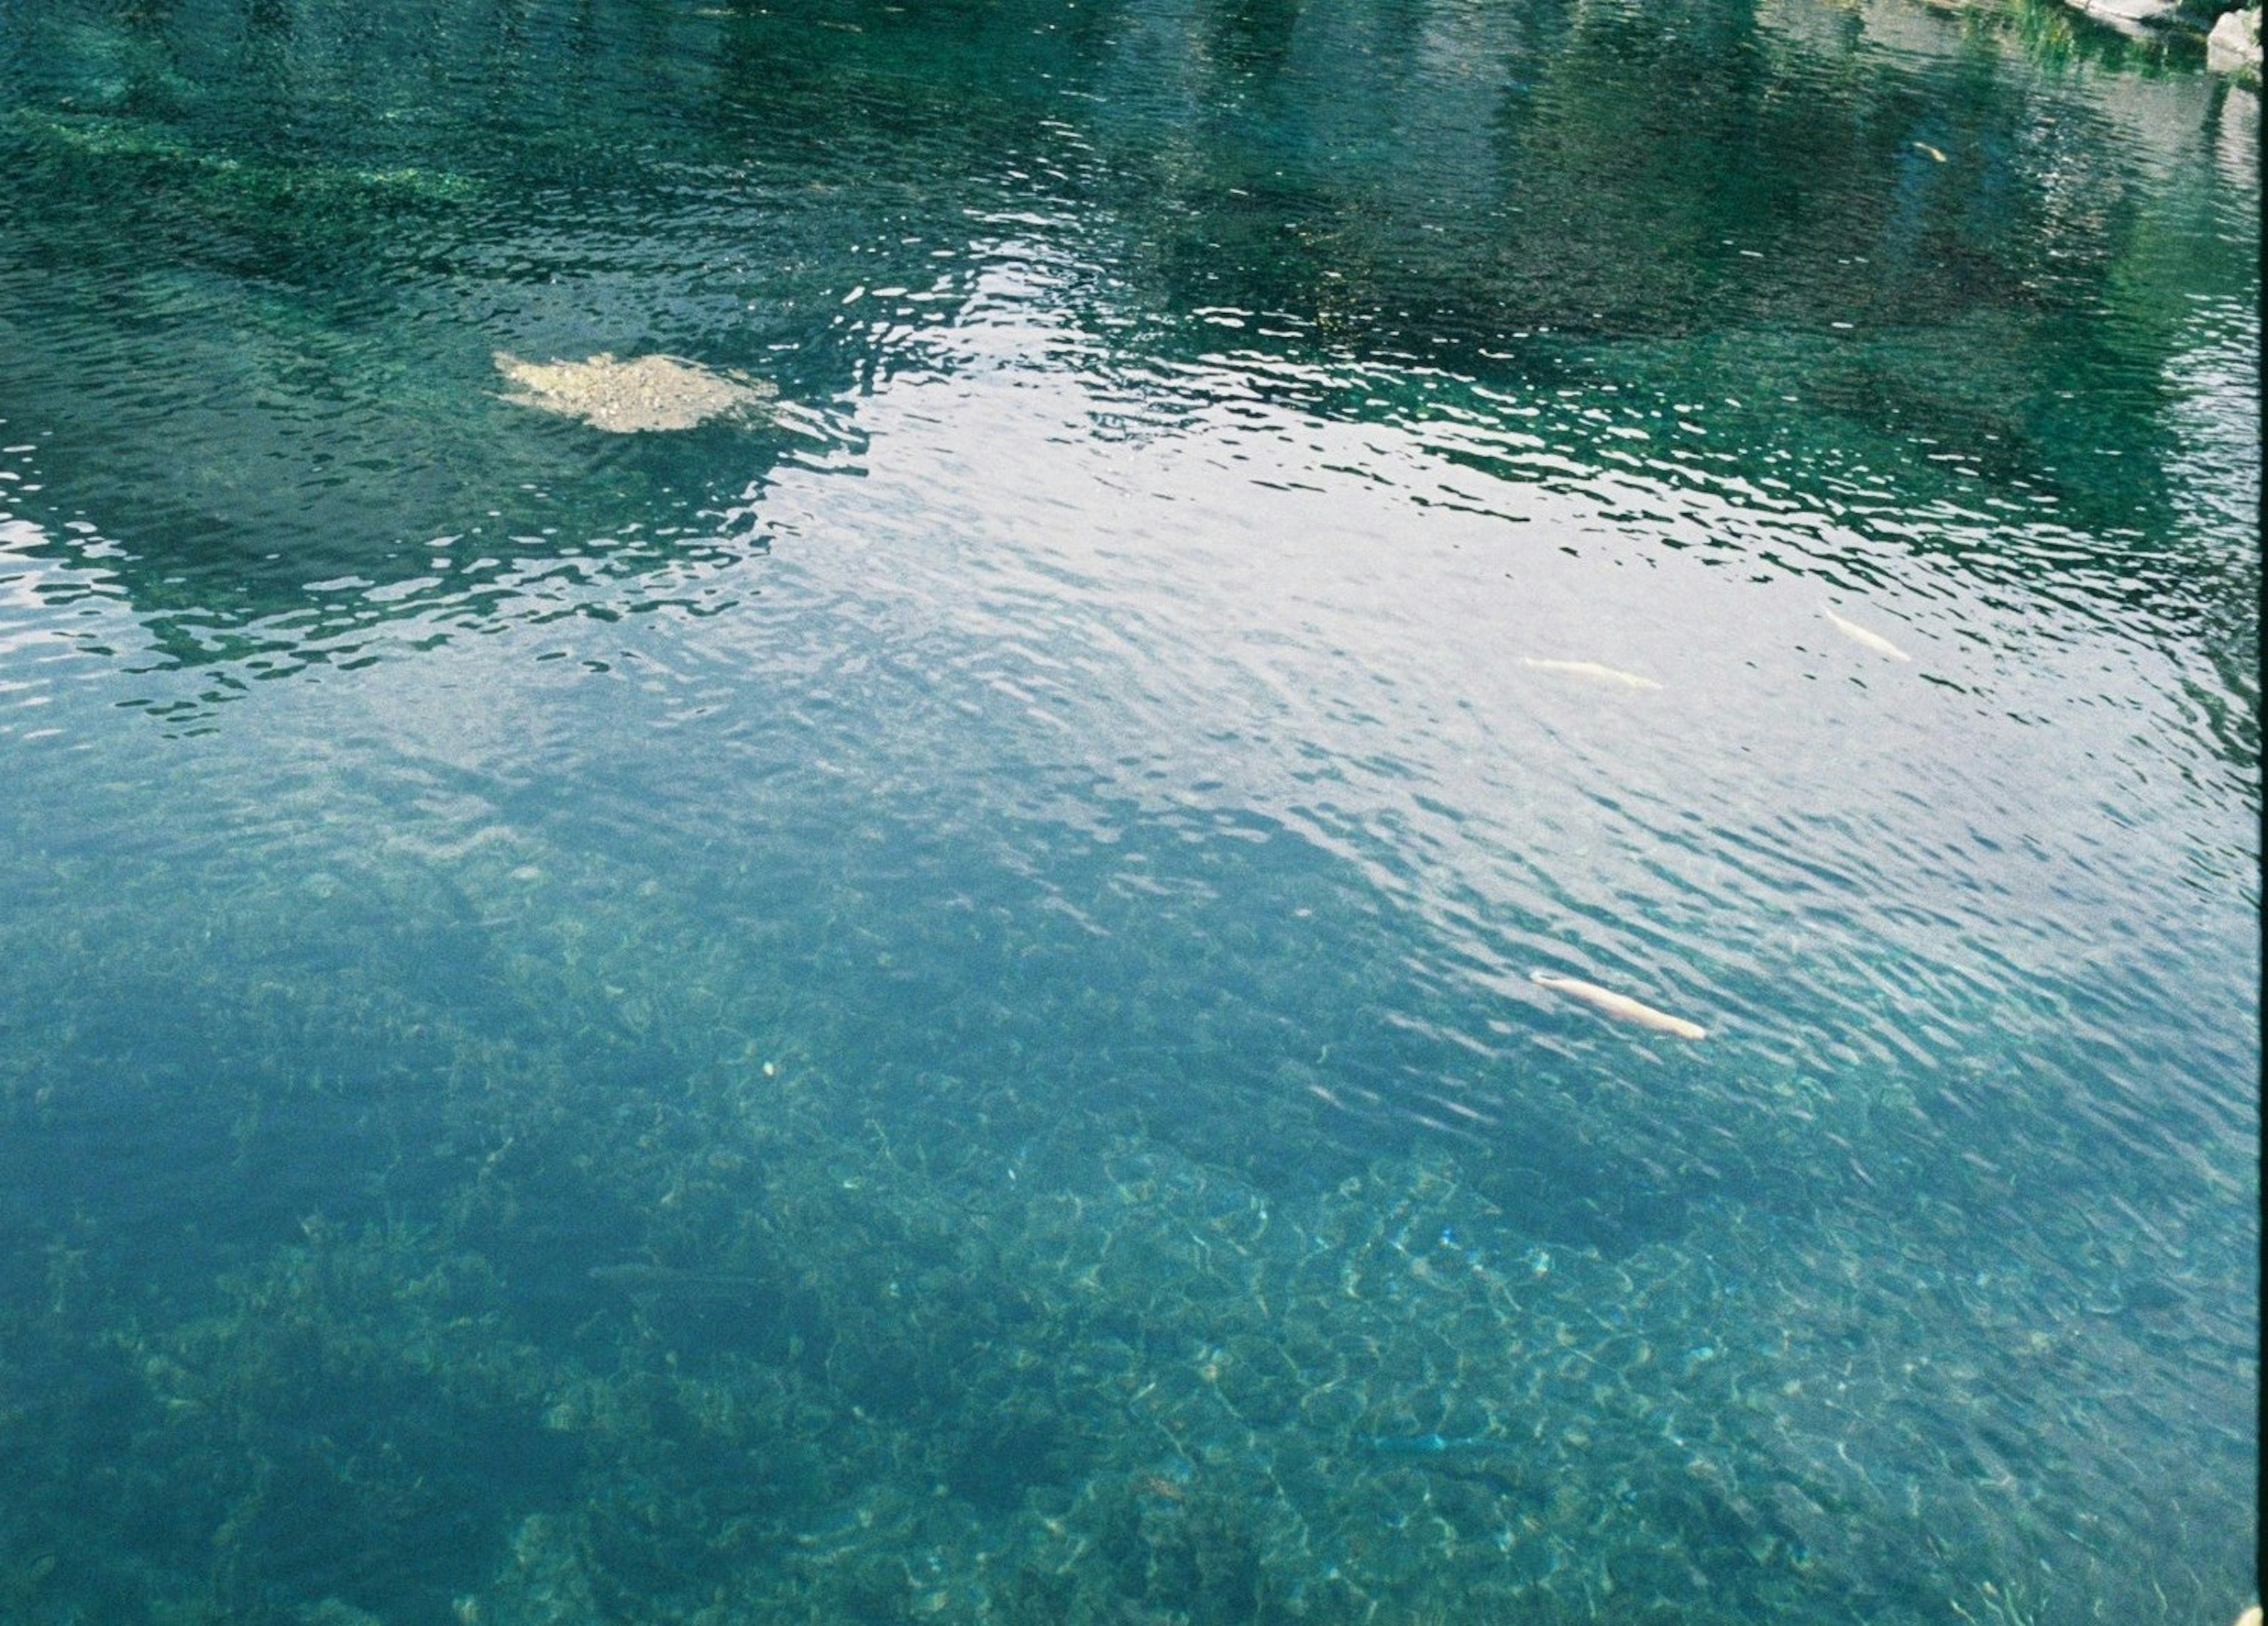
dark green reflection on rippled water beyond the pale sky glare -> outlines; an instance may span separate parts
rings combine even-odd
[[[315,608],[306,644],[308,581],[728,531],[805,444],[592,447],[501,406],[494,349],[665,349],[826,408],[950,365],[923,329],[1021,234],[1141,358],[1243,313],[1266,354],[1538,392],[1585,463],[1613,442],[1551,386],[1735,397],[1735,456],[1787,442],[1799,492],[1837,449],[2150,537],[2182,528],[2193,302],[2257,288],[2257,159],[2211,156],[2239,109],[2096,32],[2046,50],[2034,11],[256,11],[11,25],[9,422],[132,603]]]

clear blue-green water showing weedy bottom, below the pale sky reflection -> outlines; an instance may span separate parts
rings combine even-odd
[[[401,823],[0,923],[0,1619],[2241,1601],[2241,1315],[2107,1184],[2014,1222],[2093,1145],[2016,1052],[1966,1150],[1907,1082],[1735,1107],[1608,1027],[1395,1136],[1202,1009],[1107,1055],[1163,984],[891,1005],[850,891],[705,875]]]

